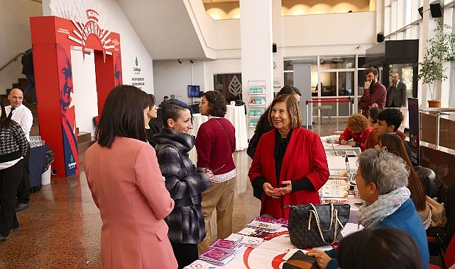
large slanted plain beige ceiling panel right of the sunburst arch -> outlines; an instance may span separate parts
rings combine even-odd
[[[207,59],[183,1],[116,1],[154,61]]]

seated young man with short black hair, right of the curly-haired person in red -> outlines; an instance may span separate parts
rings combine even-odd
[[[395,133],[401,137],[401,139],[405,140],[405,133],[398,130],[402,120],[403,115],[398,109],[387,108],[381,111],[373,126],[373,131],[370,132],[370,135],[366,138],[365,148],[374,149],[375,145],[378,144],[378,136],[385,132]]]

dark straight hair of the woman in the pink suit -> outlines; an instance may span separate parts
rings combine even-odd
[[[143,110],[150,97],[135,86],[116,86],[106,98],[95,135],[98,144],[110,148],[115,137],[147,141]]]

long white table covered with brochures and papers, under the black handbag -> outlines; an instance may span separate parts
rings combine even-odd
[[[321,137],[329,164],[329,181],[319,190],[322,203],[349,203],[349,222],[341,234],[346,236],[358,229],[358,205],[351,187],[355,186],[357,156],[360,148],[341,146],[334,137]],[[241,244],[239,244],[241,243]],[[243,244],[243,245],[242,245]],[[220,247],[221,246],[221,247]],[[319,246],[326,251],[332,246]],[[309,251],[310,248],[302,250]],[[245,228],[231,234],[225,240],[216,240],[211,248],[199,255],[199,260],[186,268],[281,268],[283,263],[298,251],[290,242],[287,219],[256,217]]]

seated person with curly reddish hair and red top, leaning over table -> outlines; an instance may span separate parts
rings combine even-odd
[[[360,147],[361,151],[365,150],[366,137],[370,135],[371,127],[368,126],[368,120],[361,113],[351,115],[346,120],[346,129],[340,135],[339,142],[342,145]],[[349,141],[352,139],[352,141]]]

